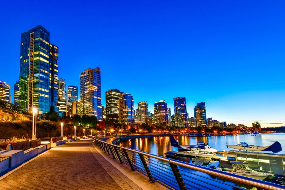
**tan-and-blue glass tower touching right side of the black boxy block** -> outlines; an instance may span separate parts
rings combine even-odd
[[[133,124],[134,121],[134,98],[130,93],[122,93],[118,100],[119,123]]]

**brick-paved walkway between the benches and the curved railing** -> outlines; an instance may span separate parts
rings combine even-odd
[[[2,179],[0,189],[141,190],[87,139],[54,147]]]

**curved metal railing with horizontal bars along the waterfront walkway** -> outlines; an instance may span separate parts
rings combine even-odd
[[[158,182],[169,189],[265,189],[285,190],[285,186],[253,178],[218,171],[194,164],[149,154],[139,150],[93,138],[95,144],[112,155],[114,159],[130,166],[149,178],[149,182]]]

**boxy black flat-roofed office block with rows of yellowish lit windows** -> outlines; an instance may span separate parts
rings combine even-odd
[[[124,93],[118,89],[111,89],[105,92],[106,97],[106,120],[112,122],[119,121],[119,108],[118,108],[118,100],[120,95]]]

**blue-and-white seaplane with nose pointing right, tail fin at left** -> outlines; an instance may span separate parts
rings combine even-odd
[[[173,146],[173,147],[182,148],[182,149],[190,150],[190,151],[194,151],[194,152],[199,151],[199,152],[204,152],[204,153],[211,153],[211,152],[217,152],[218,151],[215,148],[209,147],[204,142],[199,142],[197,145],[186,145],[186,144],[185,145],[184,144],[179,145],[173,136],[170,136],[170,143],[171,143],[171,146]]]

